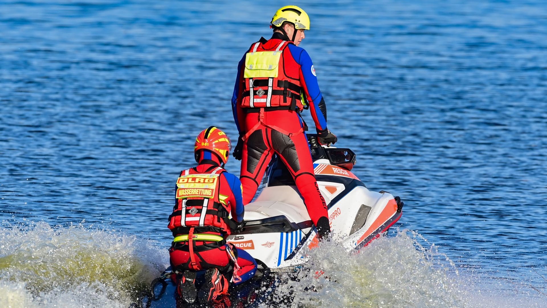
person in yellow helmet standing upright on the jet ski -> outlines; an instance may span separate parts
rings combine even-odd
[[[242,159],[243,203],[251,202],[276,153],[293,176],[319,236],[324,236],[330,232],[327,204],[313,174],[300,112],[310,109],[320,143],[337,139],[327,129],[327,107],[311,58],[298,47],[310,29],[310,18],[288,5],[277,10],[271,27],[272,37],[253,43],[239,62],[232,96],[240,133],[234,157]]]

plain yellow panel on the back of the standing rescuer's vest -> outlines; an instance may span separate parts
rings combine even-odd
[[[281,54],[281,51],[247,53],[243,78],[277,77]]]

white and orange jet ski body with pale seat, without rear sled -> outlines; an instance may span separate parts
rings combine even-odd
[[[325,202],[333,239],[348,251],[360,249],[379,237],[401,216],[403,203],[389,192],[368,190],[349,170],[317,159],[317,184]],[[270,269],[283,269],[305,262],[302,247],[317,244],[317,231],[293,185],[281,185],[283,166],[270,167],[257,199],[245,207],[246,227],[228,241],[247,250]],[[280,175],[281,174],[281,175]]]

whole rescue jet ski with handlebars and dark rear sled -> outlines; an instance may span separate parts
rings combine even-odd
[[[340,242],[348,252],[359,250],[399,220],[404,203],[387,191],[366,188],[351,172],[356,163],[352,150],[319,145],[317,135],[309,134],[308,140],[319,191],[328,207],[331,240]],[[303,248],[313,249],[319,243],[317,229],[287,167],[274,158],[266,174],[260,194],[245,206],[245,226],[227,239],[257,260],[257,274],[239,286],[230,287],[229,298],[219,307],[258,306],[269,294],[258,294],[255,290],[273,292],[276,273],[298,269],[306,262]],[[186,304],[176,292],[175,281],[176,274],[167,269],[152,283],[142,305],[136,306],[207,306]]]

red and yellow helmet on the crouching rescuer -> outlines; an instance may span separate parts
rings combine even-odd
[[[203,129],[199,135],[197,135],[196,143],[194,144],[194,156],[196,162],[199,159],[200,150],[209,150],[215,153],[223,164],[228,161],[228,155],[232,149],[232,144],[228,135],[222,130],[211,126],[207,129]]]

